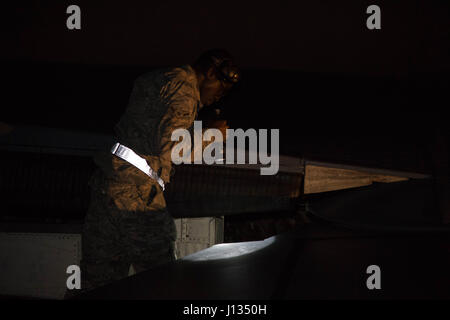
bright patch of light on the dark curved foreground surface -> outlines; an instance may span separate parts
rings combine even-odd
[[[275,237],[273,236],[261,241],[216,244],[208,249],[188,255],[183,260],[209,261],[236,258],[267,248],[275,242]]]

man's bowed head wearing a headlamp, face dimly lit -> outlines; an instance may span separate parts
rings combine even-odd
[[[239,81],[239,69],[223,49],[206,51],[195,61],[193,68],[198,78],[200,100],[205,106],[221,99]]]

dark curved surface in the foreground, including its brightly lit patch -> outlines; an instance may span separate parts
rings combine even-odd
[[[423,219],[420,227],[408,227],[427,202],[429,194],[421,192],[427,185],[408,181],[342,191],[312,203],[314,222],[295,231],[215,245],[77,299],[449,298],[450,229]],[[402,221],[386,220],[399,210]],[[381,290],[366,286],[371,265],[381,269]]]

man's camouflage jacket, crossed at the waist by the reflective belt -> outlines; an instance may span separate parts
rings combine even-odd
[[[172,132],[192,130],[201,107],[197,76],[191,66],[149,72],[136,79],[126,111],[115,126],[116,138],[170,182],[171,151],[177,143],[171,141]],[[116,180],[118,175],[123,180],[132,175],[134,183],[148,182],[145,174],[112,155],[97,156],[96,163]]]

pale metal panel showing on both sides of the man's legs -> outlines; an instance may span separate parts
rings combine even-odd
[[[177,258],[223,242],[223,218],[183,218],[175,224]],[[0,233],[0,295],[63,299],[67,267],[80,260],[81,234]]]

